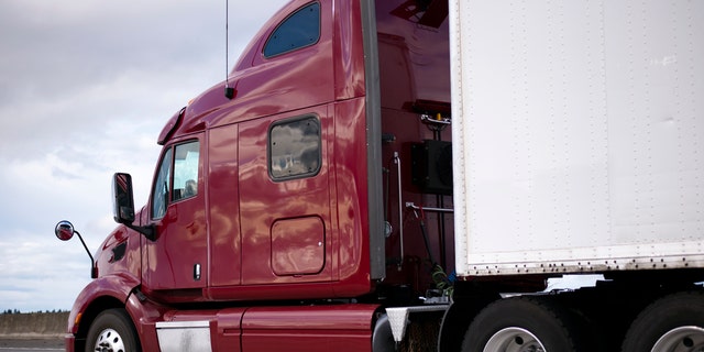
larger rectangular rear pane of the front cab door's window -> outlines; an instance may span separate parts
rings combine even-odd
[[[198,194],[198,142],[179,144],[174,154],[174,201]]]

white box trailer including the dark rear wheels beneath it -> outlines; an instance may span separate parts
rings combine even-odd
[[[702,351],[704,1],[449,13],[460,282],[441,349]],[[585,273],[606,280],[496,298]]]

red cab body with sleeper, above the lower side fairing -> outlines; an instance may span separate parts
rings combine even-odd
[[[443,125],[421,116],[449,117],[448,66],[430,65],[447,62],[447,32],[402,15],[407,4],[380,4],[386,22],[406,25],[378,34],[380,55],[394,59],[380,64],[381,90],[370,96],[361,7],[340,4],[348,19],[334,6],[293,1],[231,72],[232,98],[216,85],[164,128],[152,194],[134,223],[153,234],[132,235],[143,293],[166,302],[359,297],[388,276],[387,260],[400,261],[393,243],[386,251],[406,211],[388,209],[398,204],[391,163],[403,168],[402,191],[435,206],[414,185],[410,154],[441,136]],[[449,184],[450,156],[440,169]]]

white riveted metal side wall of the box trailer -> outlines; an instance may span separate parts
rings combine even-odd
[[[704,1],[450,21],[459,273],[704,266]]]

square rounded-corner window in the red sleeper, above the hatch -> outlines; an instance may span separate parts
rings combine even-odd
[[[306,177],[320,170],[320,121],[315,117],[285,120],[268,135],[268,170],[275,180]]]

